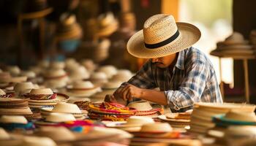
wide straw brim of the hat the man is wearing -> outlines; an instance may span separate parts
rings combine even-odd
[[[144,45],[143,30],[134,34],[127,43],[127,51],[137,58],[159,58],[171,55],[194,45],[201,37],[200,30],[189,23],[176,23],[179,37],[175,42],[155,49],[148,49]]]

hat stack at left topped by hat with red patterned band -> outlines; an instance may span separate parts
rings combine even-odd
[[[29,93],[24,94],[29,98],[29,107],[54,107],[59,102],[67,102],[69,96],[63,93],[53,93],[50,88],[32,89]]]

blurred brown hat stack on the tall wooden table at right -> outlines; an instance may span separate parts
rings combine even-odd
[[[252,49],[252,45],[244,40],[242,34],[233,32],[230,37],[227,37],[225,41],[217,43],[217,49],[211,51],[211,55],[227,56],[227,57],[241,57],[244,55],[254,55],[255,50]]]

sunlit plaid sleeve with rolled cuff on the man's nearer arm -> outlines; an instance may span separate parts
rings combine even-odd
[[[206,87],[208,68],[200,60],[190,61],[185,67],[186,75],[178,91],[165,91],[167,104],[174,110],[192,107],[195,101],[200,101],[203,89]]]

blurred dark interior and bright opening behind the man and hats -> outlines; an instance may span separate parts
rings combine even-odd
[[[145,60],[127,53],[127,41],[151,15],[165,13],[200,28],[194,47],[214,64],[225,101],[245,101],[243,60],[210,53],[233,32],[249,39],[256,28],[255,5],[253,0],[1,0],[0,67],[29,69],[40,61],[75,58],[136,72]],[[250,102],[256,103],[255,58],[247,66]]]

